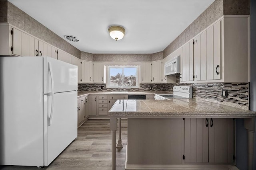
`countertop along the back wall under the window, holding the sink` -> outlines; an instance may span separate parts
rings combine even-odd
[[[84,96],[84,95],[88,95],[88,94],[111,94],[111,95],[131,95],[131,94],[134,94],[134,95],[147,95],[147,94],[151,94],[151,95],[154,95],[154,94],[170,94],[170,92],[166,92],[166,91],[152,91],[152,92],[147,92],[147,91],[128,91],[127,93],[118,93],[118,92],[109,92],[109,91],[79,91],[77,92],[77,96],[80,97],[80,96]]]

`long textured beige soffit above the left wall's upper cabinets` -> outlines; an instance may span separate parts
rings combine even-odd
[[[3,1],[2,3],[6,3]],[[56,35],[28,14],[7,2],[7,22],[80,59],[80,50]],[[1,12],[2,13],[2,12]]]

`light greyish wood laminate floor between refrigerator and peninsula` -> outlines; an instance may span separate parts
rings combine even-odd
[[[116,131],[118,137],[118,131]],[[116,169],[124,170],[127,120],[122,119],[123,149],[116,152]],[[89,119],[78,128],[78,137],[42,170],[111,170],[109,119]],[[0,170],[38,170],[31,166],[0,166]]]

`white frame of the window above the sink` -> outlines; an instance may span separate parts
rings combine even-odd
[[[106,88],[119,88],[118,86],[110,86],[110,68],[136,68],[136,86],[121,86],[121,89],[127,89],[127,88],[140,88],[140,82],[139,82],[139,76],[140,76],[140,66],[138,65],[109,65],[107,66],[107,74],[106,74]],[[124,81],[124,78],[123,80]],[[123,84],[123,83],[122,83]]]

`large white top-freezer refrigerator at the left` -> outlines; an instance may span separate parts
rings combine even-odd
[[[48,166],[77,137],[77,66],[0,57],[0,164]]]

